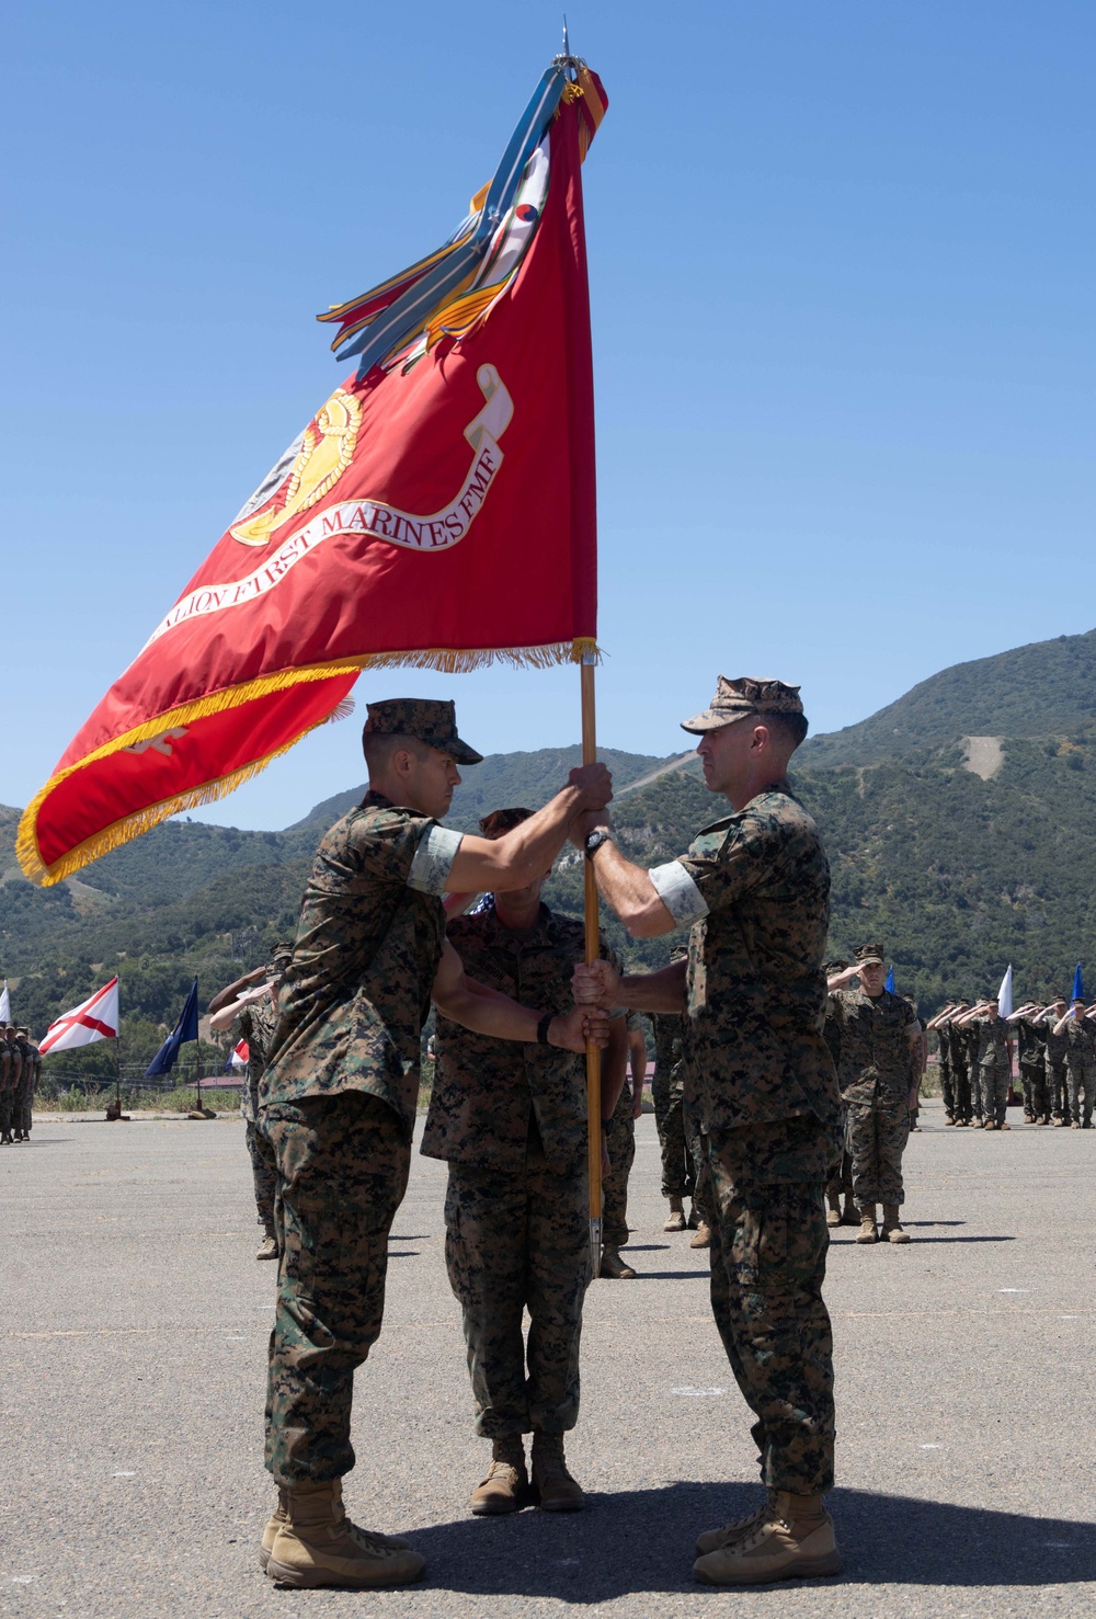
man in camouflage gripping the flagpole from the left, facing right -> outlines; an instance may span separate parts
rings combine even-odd
[[[288,1585],[380,1587],[421,1575],[406,1541],[348,1522],[342,1477],[353,1375],[380,1332],[387,1243],[406,1187],[419,1043],[431,996],[450,1018],[525,1043],[584,1051],[601,1023],[537,1017],[466,978],[445,944],[442,894],[542,874],[576,814],[604,805],[604,766],[497,843],[440,827],[458,764],[479,763],[452,703],[371,703],[371,787],[324,837],[304,889],[266,1070],[261,1127],[277,1159],[278,1298],[266,1460],[278,1509],[261,1546]],[[560,1451],[562,1454],[562,1451]]]

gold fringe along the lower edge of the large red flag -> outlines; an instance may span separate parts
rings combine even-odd
[[[42,805],[49,795],[60,785],[66,777],[73,776],[76,771],[86,769],[89,764],[96,764],[99,759],[108,758],[113,753],[121,753],[125,748],[134,746],[138,742],[147,742],[154,737],[164,735],[165,730],[172,730],[180,725],[193,724],[198,719],[206,719],[212,714],[223,714],[227,709],[241,708],[244,703],[253,703],[257,698],[270,696],[275,691],[287,691],[290,686],[299,685],[306,680],[327,680],[335,675],[358,674],[363,669],[437,669],[442,674],[466,674],[473,669],[484,669],[489,664],[502,662],[510,664],[515,669],[552,669],[559,664],[581,664],[586,654],[593,654],[601,659],[601,651],[593,638],[576,636],[573,641],[554,641],[546,646],[518,646],[518,648],[481,648],[481,649],[453,649],[453,648],[424,648],[419,651],[406,652],[366,652],[355,659],[335,659],[329,664],[314,664],[306,669],[283,669],[272,675],[262,675],[257,680],[243,682],[238,686],[225,686],[222,691],[210,691],[207,696],[196,699],[194,703],[185,703],[180,708],[168,709],[165,714],[159,714],[155,719],[146,720],[142,725],[134,725],[131,730],[123,732],[121,737],[115,737],[112,742],[104,743],[81,759],[78,764],[70,764],[66,769],[58,771],[52,776],[45,787],[40,788],[31,800],[31,803],[23,811],[19,819],[19,831],[16,835],[16,858],[26,877],[40,887],[52,887],[57,882],[63,882],[65,877],[71,877],[74,871],[81,871],[89,866],[92,860],[99,860],[102,855],[108,855],[115,848],[121,848],[123,843],[133,842],[136,837],[142,837],[144,832],[151,832],[152,827],[159,826],[162,821],[168,821],[173,814],[180,814],[183,810],[199,810],[202,805],[215,803],[219,798],[227,798],[228,793],[235,792],[236,787],[243,787],[261,771],[266,771],[267,764],[274,759],[282,758],[288,753],[303,737],[316,730],[317,725],[329,725],[333,720],[346,719],[353,714],[355,703],[353,698],[342,698],[330,714],[325,714],[316,724],[308,725],[298,737],[267,753],[262,759],[253,759],[251,764],[241,766],[238,771],[232,771],[228,776],[220,776],[215,780],[202,782],[199,787],[188,787],[186,792],[173,793],[170,798],[162,798],[159,803],[146,805],[142,810],[136,810],[133,814],[123,816],[120,821],[113,821],[105,826],[100,832],[92,837],[84,839],[68,853],[55,860],[52,866],[42,860],[39,843],[37,843],[37,818]]]

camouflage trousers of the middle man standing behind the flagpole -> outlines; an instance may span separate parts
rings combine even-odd
[[[586,1166],[554,1174],[536,1133],[521,1169],[450,1164],[445,1268],[463,1311],[476,1433],[573,1428],[589,1284]]]

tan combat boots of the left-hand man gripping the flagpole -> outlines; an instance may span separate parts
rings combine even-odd
[[[423,1575],[426,1557],[418,1551],[350,1522],[340,1478],[295,1485],[287,1491],[285,1514],[267,1562],[278,1585],[374,1590],[410,1585]]]

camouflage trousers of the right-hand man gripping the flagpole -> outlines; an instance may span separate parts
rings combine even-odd
[[[785,1151],[774,1154],[774,1141]],[[832,1148],[813,1119],[795,1119],[711,1137],[707,1161],[712,1315],[756,1417],[761,1480],[803,1496],[830,1489],[834,1336],[822,1281]],[[785,1179],[797,1172],[811,1179]]]

